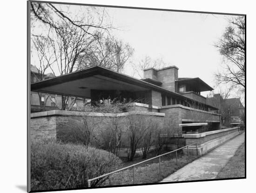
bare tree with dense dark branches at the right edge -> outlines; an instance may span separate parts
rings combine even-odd
[[[225,62],[222,72],[215,74],[218,84],[230,83],[245,91],[245,17],[229,20],[222,38],[215,44]]]

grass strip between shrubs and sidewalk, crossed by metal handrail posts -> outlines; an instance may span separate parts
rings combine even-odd
[[[150,156],[154,157],[154,156]],[[135,184],[144,183],[156,183],[174,173],[178,169],[182,168],[186,164],[195,160],[197,157],[184,155],[181,152],[178,153],[178,165],[176,164],[175,153],[163,156],[161,158],[161,175],[159,174],[159,159],[150,160],[149,162],[142,163],[141,165],[135,166]],[[132,162],[124,162],[123,167],[135,164],[142,161],[141,158],[136,158]],[[133,170],[128,169],[115,173],[109,176],[101,186],[118,186],[133,184]]]

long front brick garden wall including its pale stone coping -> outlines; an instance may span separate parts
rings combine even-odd
[[[35,114],[35,115],[33,115]],[[145,124],[157,123],[157,128],[163,127],[163,113],[153,112],[129,112],[129,113],[85,113],[69,111],[51,111],[32,113],[30,134],[32,142],[46,136],[54,136],[56,139],[65,137],[67,130],[74,126],[85,126],[83,120],[87,121],[95,143],[106,140],[111,134],[113,124],[122,132],[121,147],[128,147],[129,121],[143,120]],[[41,116],[40,116],[41,115]]]

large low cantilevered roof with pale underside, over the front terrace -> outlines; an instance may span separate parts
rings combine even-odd
[[[89,67],[31,84],[31,91],[84,98],[91,97],[91,89],[123,90],[130,92],[155,90],[160,93],[170,94],[180,99],[191,100],[182,94],[171,92],[146,81],[136,79],[123,73],[117,73],[100,66]],[[217,109],[213,106],[209,107]]]

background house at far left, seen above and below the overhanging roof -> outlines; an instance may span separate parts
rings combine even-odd
[[[47,74],[41,75],[37,67],[33,65],[30,65],[30,69],[31,69],[31,73],[30,73],[31,84],[38,82],[41,79],[47,80],[47,79],[54,78],[53,73],[47,73]],[[62,104],[61,95],[42,93],[42,92],[33,92],[33,91],[31,91],[30,94],[31,94],[31,113],[61,109],[61,104]],[[66,109],[68,109],[70,105],[72,105],[74,108],[82,108],[84,102],[85,102],[85,99],[69,97],[67,99]]]

